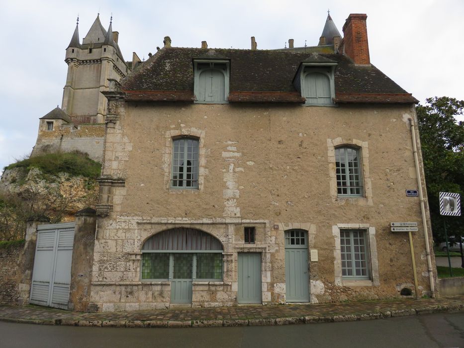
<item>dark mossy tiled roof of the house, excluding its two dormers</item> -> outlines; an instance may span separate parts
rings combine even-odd
[[[299,92],[293,86],[292,80],[300,63],[306,61],[338,63],[335,70],[336,101],[416,102],[411,94],[374,66],[357,66],[341,54],[314,56],[308,53],[275,50],[163,48],[140,69],[128,75],[121,82],[121,89],[131,100],[193,100],[192,60],[208,56],[212,59],[220,57],[230,60],[229,101],[231,102],[244,101],[247,97],[253,99],[250,101],[263,102],[296,102],[295,98],[299,98],[298,102],[301,102]],[[254,93],[243,94],[245,92]],[[359,97],[360,93],[375,94],[375,101],[369,101],[371,99],[367,97]],[[343,95],[343,98],[339,98],[339,94]],[[392,95],[395,97],[392,98]],[[134,99],[136,96],[137,99]]]

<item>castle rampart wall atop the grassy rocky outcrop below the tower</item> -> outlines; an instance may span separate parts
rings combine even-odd
[[[103,159],[104,125],[63,123],[62,120],[53,120],[53,130],[47,130],[47,121],[40,120],[37,141],[32,150],[32,156],[47,152],[81,151],[97,162]]]

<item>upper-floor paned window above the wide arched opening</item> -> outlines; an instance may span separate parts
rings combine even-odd
[[[172,188],[198,188],[198,152],[197,138],[173,139]]]

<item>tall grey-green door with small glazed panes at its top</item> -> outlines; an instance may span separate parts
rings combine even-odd
[[[287,302],[309,301],[307,233],[285,231],[285,298]]]

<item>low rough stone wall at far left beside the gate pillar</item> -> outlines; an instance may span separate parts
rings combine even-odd
[[[0,303],[14,304],[18,297],[19,257],[24,243],[0,247]]]

